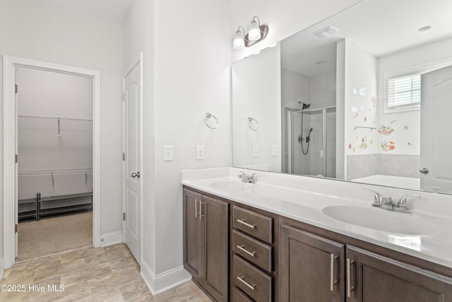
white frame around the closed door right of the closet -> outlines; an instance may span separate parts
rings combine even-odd
[[[146,178],[143,175],[143,52],[140,52],[139,57],[132,61],[133,63],[126,69],[124,76],[122,77],[122,152],[125,153],[126,150],[126,102],[125,102],[125,91],[126,84],[125,79],[131,71],[136,67],[140,66],[140,167],[138,170],[141,171],[141,185],[140,185],[140,260],[137,260],[138,265],[143,262],[143,179]],[[126,161],[122,161],[122,212],[126,212]],[[122,220],[122,242],[126,243],[126,221]]]

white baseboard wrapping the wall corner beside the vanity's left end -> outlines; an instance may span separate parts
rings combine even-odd
[[[184,267],[176,267],[156,275],[145,260],[141,260],[141,277],[153,296],[191,280],[191,274]]]

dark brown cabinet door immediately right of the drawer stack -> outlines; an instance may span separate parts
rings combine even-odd
[[[344,301],[345,246],[280,225],[280,301]]]

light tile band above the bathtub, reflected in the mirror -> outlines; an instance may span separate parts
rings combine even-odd
[[[371,175],[420,178],[420,155],[365,154],[347,156],[347,180]]]

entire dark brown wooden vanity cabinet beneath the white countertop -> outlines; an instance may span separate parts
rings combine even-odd
[[[214,301],[452,302],[449,267],[186,187],[184,267]]]

